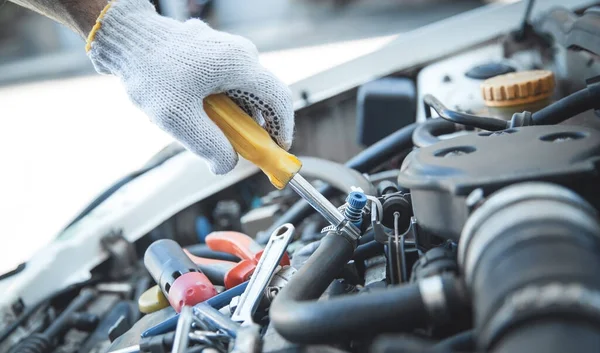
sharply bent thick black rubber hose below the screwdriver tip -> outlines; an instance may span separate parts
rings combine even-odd
[[[417,284],[317,301],[352,257],[354,246],[327,234],[317,251],[275,297],[270,318],[294,343],[327,343],[422,327],[427,310]]]

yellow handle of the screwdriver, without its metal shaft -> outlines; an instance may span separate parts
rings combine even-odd
[[[237,153],[262,169],[277,189],[283,189],[302,167],[296,156],[279,147],[265,129],[225,94],[206,97],[204,110]]]

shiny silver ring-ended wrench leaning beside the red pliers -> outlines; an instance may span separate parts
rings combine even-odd
[[[271,278],[273,278],[275,270],[279,266],[279,261],[281,261],[281,258],[285,254],[285,249],[290,240],[292,240],[293,234],[294,226],[290,223],[286,223],[275,229],[271,234],[263,255],[250,278],[248,287],[246,287],[237,308],[231,316],[233,321],[241,322],[242,326],[254,323],[252,316],[258,308],[265,289],[269,285]]]

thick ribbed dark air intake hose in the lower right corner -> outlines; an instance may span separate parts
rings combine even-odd
[[[467,220],[459,260],[478,351],[591,352],[600,346],[597,211],[558,185],[491,195]]]

